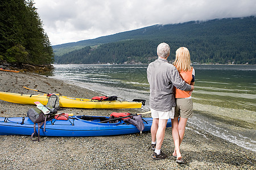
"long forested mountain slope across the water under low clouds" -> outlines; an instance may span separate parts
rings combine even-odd
[[[152,25],[98,39],[56,45],[53,50],[57,63],[149,63],[156,58],[160,42],[170,45],[169,60],[175,58],[177,48],[185,46],[195,63],[256,64],[256,18]]]

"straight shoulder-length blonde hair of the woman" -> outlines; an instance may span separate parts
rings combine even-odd
[[[191,71],[189,50],[184,46],[176,50],[176,58],[173,65],[180,71]]]

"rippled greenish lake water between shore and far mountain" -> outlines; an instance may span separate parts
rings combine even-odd
[[[52,78],[131,101],[146,99],[147,65],[54,65]],[[193,65],[194,114],[188,124],[256,151],[256,66]],[[199,133],[199,131],[197,131]]]

